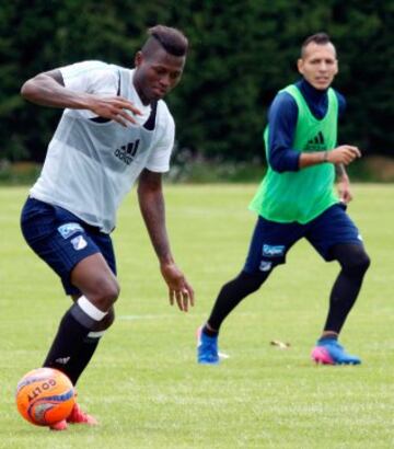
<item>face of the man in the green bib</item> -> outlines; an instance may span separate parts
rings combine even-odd
[[[308,44],[298,60],[298,70],[317,90],[328,89],[338,73],[338,61],[333,44]]]

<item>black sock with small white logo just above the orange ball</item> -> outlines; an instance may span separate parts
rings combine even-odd
[[[78,303],[63,315],[57,335],[44,361],[45,367],[65,372],[76,384],[97,347],[99,338],[88,336],[96,321],[86,315]]]

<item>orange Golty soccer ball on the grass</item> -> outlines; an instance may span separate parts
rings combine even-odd
[[[19,381],[15,393],[20,414],[37,426],[50,426],[66,419],[74,405],[70,379],[53,368],[28,371]]]

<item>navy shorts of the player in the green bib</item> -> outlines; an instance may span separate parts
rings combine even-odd
[[[327,262],[333,260],[331,249],[336,244],[362,245],[361,235],[345,210],[345,205],[336,204],[305,225],[279,223],[258,217],[243,269],[269,272],[285,264],[287,252],[302,238]]]

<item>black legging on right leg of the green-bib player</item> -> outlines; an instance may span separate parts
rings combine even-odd
[[[334,284],[329,297],[329,310],[325,331],[339,334],[347,315],[356,302],[363,276],[370,260],[362,245],[340,244],[334,249],[334,255],[341,265],[341,270]]]

